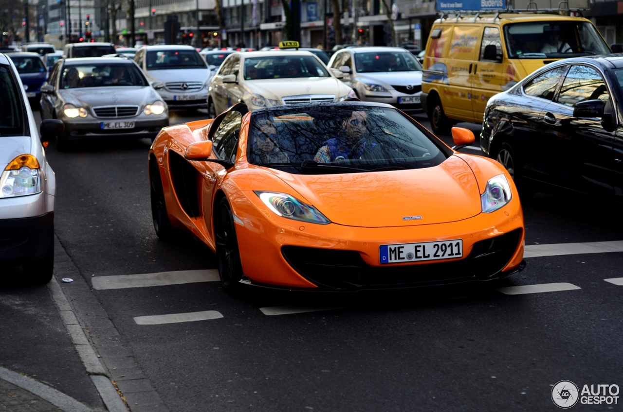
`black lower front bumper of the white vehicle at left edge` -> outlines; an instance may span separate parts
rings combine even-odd
[[[36,217],[0,219],[0,262],[22,265],[48,250],[54,232],[54,212]]]

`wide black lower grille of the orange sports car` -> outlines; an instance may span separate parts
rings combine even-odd
[[[521,229],[475,243],[467,258],[409,266],[369,266],[351,250],[283,246],[285,260],[299,274],[325,289],[409,288],[493,278],[513,257]]]

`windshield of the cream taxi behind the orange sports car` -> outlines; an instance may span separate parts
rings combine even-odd
[[[313,56],[270,56],[244,60],[245,80],[295,77],[330,77]]]

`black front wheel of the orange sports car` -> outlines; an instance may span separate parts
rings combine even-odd
[[[234,215],[225,198],[218,202],[217,211],[214,218],[214,234],[219,278],[222,288],[228,293],[234,293],[239,291],[242,279],[242,263],[235,235]]]

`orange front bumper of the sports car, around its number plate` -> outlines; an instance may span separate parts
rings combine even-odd
[[[359,291],[489,281],[523,269],[525,233],[518,200],[460,222],[363,228],[288,221],[257,213],[263,208],[259,199],[247,199],[250,202],[232,202],[232,212],[243,223],[235,228],[242,269],[251,284]],[[379,262],[381,245],[459,238],[462,258]]]

